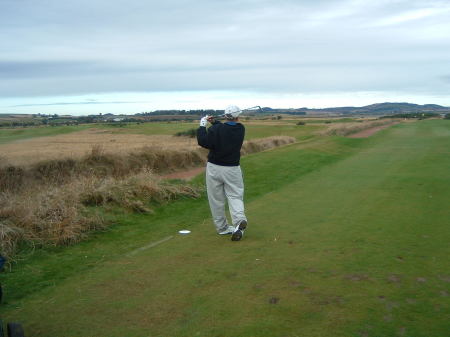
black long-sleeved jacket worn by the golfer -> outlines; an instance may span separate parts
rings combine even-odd
[[[197,130],[198,145],[209,150],[208,161],[221,166],[239,166],[245,127],[241,123],[215,121]]]

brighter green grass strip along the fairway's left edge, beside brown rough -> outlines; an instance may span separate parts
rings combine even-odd
[[[286,156],[285,153],[289,153],[288,149],[291,146],[287,146],[278,151],[265,152],[265,159],[263,160],[258,159],[258,156],[255,155],[249,155],[243,159],[245,180],[246,184],[249,185],[246,190],[247,200],[251,201],[271,189],[280,188],[288,184],[295,175],[306,174],[321,165],[325,165],[339,158],[335,154],[327,155],[320,149],[315,149],[313,151],[306,151],[300,156],[295,156],[294,162],[297,164],[289,165],[293,164],[293,155]],[[328,146],[335,147],[335,145]],[[263,163],[262,169],[259,167],[260,163]],[[265,177],[267,170],[275,171],[279,165],[286,166],[286,168],[278,174]],[[193,184],[203,185],[203,178],[201,176],[197,177],[193,181]],[[188,227],[198,224],[198,222],[205,219],[205,214],[209,216],[209,209],[205,200],[203,196],[199,201],[183,200],[182,202],[173,202],[169,205],[156,208],[154,214],[149,218],[129,213],[123,214],[122,210],[117,210],[117,213],[113,215],[105,214],[107,220],[114,222],[116,225],[105,229],[104,232],[93,234],[92,238],[74,247],[47,247],[46,249],[34,251],[31,255],[29,254],[33,251],[32,247],[29,249],[22,247],[22,253],[19,254],[17,259],[19,261],[26,259],[27,262],[23,265],[24,269],[22,269],[22,264],[19,263],[14,268],[13,273],[9,274],[6,279],[7,286],[9,284],[9,286],[13,287],[10,292],[10,298],[21,298],[44,287],[48,282],[53,283],[54,280],[48,280],[49,275],[55,275],[56,280],[65,279],[73,273],[77,273],[78,269],[85,270],[86,263],[90,265],[89,261],[91,259],[102,260],[104,256],[111,258],[122,254],[124,250],[131,249],[130,246],[142,245],[149,240],[149,237],[145,235],[148,232],[159,237],[172,233],[174,224],[183,224],[183,226]],[[149,225],[149,222],[151,222],[151,225]],[[176,226],[176,228],[181,227]],[[89,245],[89,243],[95,245],[96,248],[92,249],[86,258],[88,260],[85,260],[85,245]],[[106,248],[100,248],[103,245]],[[80,247],[82,248],[80,249]],[[112,248],[114,248],[113,251],[111,251]],[[67,250],[70,253],[66,255],[65,252]],[[81,263],[72,265],[74,256],[78,255],[77,253],[73,253],[73,251],[79,251],[78,258]],[[58,266],[54,265],[56,260],[59,261]],[[70,264],[69,267],[64,267],[64,260],[67,260],[66,263]],[[39,264],[43,264],[43,270],[49,268],[49,271],[30,273],[27,275],[29,269],[26,266],[34,265],[34,261],[39,261]],[[16,286],[17,289],[14,289]]]

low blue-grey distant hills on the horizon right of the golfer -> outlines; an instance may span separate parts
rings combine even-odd
[[[273,109],[269,107],[262,108],[264,113],[284,113],[291,115],[341,115],[341,114],[367,114],[367,115],[386,115],[386,114],[404,114],[417,112],[431,113],[450,113],[449,107],[437,104],[412,104],[412,103],[376,103],[362,107],[337,107],[324,109]]]

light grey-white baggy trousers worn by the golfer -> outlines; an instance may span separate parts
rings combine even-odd
[[[228,200],[234,226],[247,220],[244,213],[244,181],[240,166],[206,165],[206,189],[217,232],[227,228],[225,202]]]

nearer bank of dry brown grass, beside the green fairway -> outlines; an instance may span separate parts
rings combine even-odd
[[[0,193],[0,253],[11,257],[19,242],[33,245],[68,245],[87,233],[107,226],[88,206],[121,207],[132,212],[151,212],[151,202],[180,196],[198,197],[198,189],[173,185],[148,171],[126,178],[95,176],[55,186],[30,187],[20,193]]]

